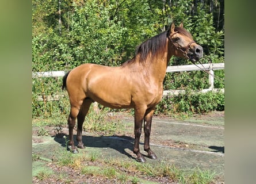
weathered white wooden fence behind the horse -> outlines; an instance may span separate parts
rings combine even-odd
[[[203,89],[199,91],[199,93],[207,93],[208,91],[220,92],[224,93],[224,89],[215,89],[214,88],[214,70],[224,70],[224,63],[209,63],[198,65],[200,68],[195,66],[194,64],[189,65],[181,65],[181,66],[168,66],[166,72],[181,72],[181,71],[198,71],[202,70],[202,68],[206,68],[209,71],[209,89]],[[32,72],[32,78],[40,78],[40,77],[59,77],[64,76],[65,71],[47,71],[47,72]],[[165,90],[163,91],[163,95],[179,95],[185,93],[185,90]],[[50,97],[47,100],[58,100],[59,95],[56,97]],[[43,98],[39,97],[39,100],[43,101]]]

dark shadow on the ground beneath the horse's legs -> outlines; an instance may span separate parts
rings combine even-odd
[[[54,140],[59,143],[62,147],[67,148],[68,144],[68,138],[64,138],[64,136],[68,137],[68,135],[65,135],[63,133],[59,133],[56,136],[54,136]],[[77,136],[74,135],[74,141],[75,145],[77,145]],[[93,148],[112,148],[116,151],[119,151],[121,154],[128,156],[128,158],[135,159],[135,156],[132,156],[129,154],[127,149],[129,149],[129,152],[132,152],[133,150],[133,141],[134,139],[129,136],[82,136],[82,141],[85,147],[93,147]],[[143,143],[140,143],[143,144]],[[86,148],[85,148],[86,149]],[[81,151],[80,149],[78,149]],[[146,156],[146,155],[144,155]]]

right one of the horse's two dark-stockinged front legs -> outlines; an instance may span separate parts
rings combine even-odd
[[[148,158],[157,159],[157,156],[150,149],[150,133],[151,133],[151,123],[152,123],[153,114],[154,114],[154,109],[148,109],[144,117],[144,133],[145,133],[144,151],[148,152],[148,155],[147,155]]]

